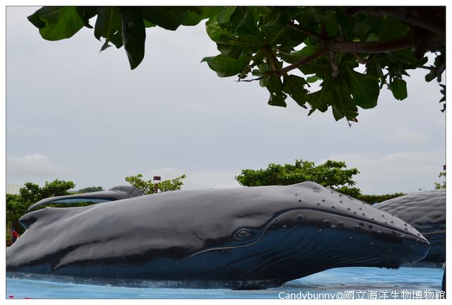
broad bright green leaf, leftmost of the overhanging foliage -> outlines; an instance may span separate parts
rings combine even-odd
[[[72,37],[84,25],[75,6],[44,6],[28,16],[28,20],[40,29],[45,40]]]

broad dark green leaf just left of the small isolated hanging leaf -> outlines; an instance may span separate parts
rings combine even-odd
[[[364,109],[374,108],[379,99],[379,80],[371,74],[362,74],[345,66],[340,69],[350,85],[353,102]]]

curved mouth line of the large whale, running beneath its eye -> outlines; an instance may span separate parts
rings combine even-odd
[[[326,213],[326,214],[330,214],[330,215],[337,215],[337,216],[341,216],[341,217],[345,217],[345,218],[349,218],[349,219],[353,219],[353,220],[358,220],[360,222],[365,221],[365,222],[368,222],[370,224],[377,225],[379,227],[383,227],[385,229],[389,229],[389,230],[393,230],[393,231],[399,232],[400,234],[403,234],[405,236],[406,235],[410,235],[410,237],[413,237],[415,240],[424,241],[420,237],[417,237],[415,234],[412,234],[411,232],[404,232],[401,229],[398,229],[398,228],[395,228],[395,227],[391,227],[391,226],[386,225],[386,224],[381,224],[380,222],[377,222],[375,220],[362,219],[362,218],[357,217],[357,216],[347,215],[347,214],[343,214],[343,213],[335,212],[335,211],[330,211],[330,210],[322,210],[320,208],[290,208],[290,209],[281,210],[280,212],[275,213],[275,215],[273,215],[273,217],[271,217],[270,220],[268,220],[266,222],[265,227],[263,228],[262,233],[258,237],[258,239],[254,240],[254,241],[251,241],[249,244],[243,244],[243,245],[239,245],[239,246],[225,246],[225,247],[215,247],[215,248],[204,249],[204,250],[201,250],[201,251],[197,251],[195,253],[191,253],[189,256],[186,256],[184,259],[182,259],[181,263],[184,263],[185,261],[189,260],[190,258],[193,258],[194,256],[197,256],[198,254],[201,254],[201,253],[206,253],[206,252],[209,252],[209,251],[217,251],[217,250],[239,249],[239,248],[244,248],[244,247],[256,244],[259,240],[262,239],[263,235],[267,232],[268,227],[270,227],[270,225],[272,224],[273,220],[275,220],[276,218],[280,217],[281,215],[283,215],[285,213],[290,213],[290,212],[296,211],[296,210],[309,210],[309,211]]]

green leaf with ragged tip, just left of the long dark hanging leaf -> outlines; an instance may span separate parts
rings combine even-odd
[[[117,48],[122,47],[122,20],[121,9],[117,6],[101,6],[97,8],[97,20],[94,36],[100,40],[105,38],[105,43],[112,42]],[[101,51],[107,47],[102,47]]]

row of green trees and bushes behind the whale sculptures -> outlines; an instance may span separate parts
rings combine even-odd
[[[242,186],[270,186],[270,185],[290,185],[303,181],[314,181],[329,189],[334,189],[340,193],[350,195],[354,198],[373,204],[376,202],[386,201],[391,198],[403,196],[405,193],[391,193],[383,195],[363,194],[356,187],[356,181],[353,179],[359,174],[357,168],[347,168],[343,161],[328,160],[321,165],[315,165],[314,162],[308,160],[295,160],[295,164],[277,165],[270,163],[266,169],[242,169],[235,179]],[[439,177],[446,177],[446,172],[441,172]],[[182,189],[186,175],[180,177],[160,181],[158,189],[160,192],[177,191]],[[155,192],[155,183],[152,179],[143,179],[142,174],[125,177],[125,180],[141,189],[145,194]],[[73,193],[89,193],[93,191],[103,191],[101,186],[91,186],[78,191],[70,191],[76,185],[73,181],[61,181],[56,179],[52,182],[45,182],[44,186],[39,186],[32,182],[27,182],[20,189],[18,195],[6,194],[6,223],[8,229],[14,227],[18,232],[22,232],[22,226],[18,223],[18,219],[27,213],[28,208],[33,203],[43,198],[52,196],[64,196]],[[446,181],[441,183],[434,182],[435,189],[446,188]],[[85,206],[91,203],[77,203],[71,206]],[[67,206],[64,203],[53,204],[54,207]],[[43,207],[41,207],[43,208]]]

